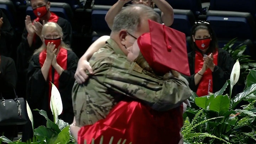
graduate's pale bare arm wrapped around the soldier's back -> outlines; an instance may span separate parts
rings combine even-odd
[[[98,38],[91,46],[86,50],[84,55],[78,61],[78,67],[75,72],[75,79],[79,84],[82,84],[88,79],[88,75],[85,73],[85,70],[88,70],[90,73],[93,73],[93,70],[88,62],[92,55],[97,52],[102,46],[106,44],[107,39],[110,36],[102,36]]]

